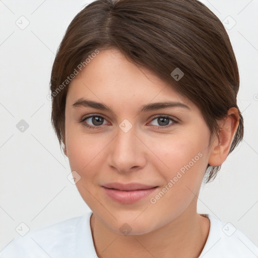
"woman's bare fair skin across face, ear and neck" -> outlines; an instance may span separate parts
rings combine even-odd
[[[80,98],[100,102],[113,112],[73,106]],[[165,101],[187,107],[139,112],[144,104]],[[228,111],[228,117],[220,121],[220,140],[214,137],[209,144],[209,128],[195,104],[151,72],[139,69],[119,50],[111,49],[101,50],[71,82],[65,112],[65,154],[71,170],[81,176],[77,188],[93,211],[90,224],[97,255],[198,257],[210,228],[209,219],[197,213],[202,179],[208,164],[221,165],[226,159],[238,126],[237,110]],[[103,117],[103,122],[96,123],[92,117],[78,122],[90,115]],[[174,121],[167,119],[164,125],[157,118],[160,116]],[[119,127],[124,119],[132,124],[126,133]],[[202,157],[162,198],[151,203],[150,198],[198,153]],[[135,203],[121,204],[110,199],[101,186],[110,182],[158,187]],[[131,228],[126,235],[119,229],[124,223]]]

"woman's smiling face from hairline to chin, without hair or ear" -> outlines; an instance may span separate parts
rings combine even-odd
[[[144,234],[196,212],[210,155],[201,111],[119,50],[101,50],[69,85],[65,132],[76,186],[112,231]]]

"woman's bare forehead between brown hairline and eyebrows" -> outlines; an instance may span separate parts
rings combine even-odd
[[[91,98],[125,106],[151,101],[180,101],[192,105],[171,85],[139,68],[119,50],[101,50],[69,85],[67,102]],[[73,103],[72,103],[73,102]]]

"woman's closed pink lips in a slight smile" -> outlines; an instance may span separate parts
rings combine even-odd
[[[139,183],[109,183],[102,185],[108,197],[123,204],[132,204],[149,196],[158,186]]]

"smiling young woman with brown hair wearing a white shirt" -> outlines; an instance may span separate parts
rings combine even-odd
[[[16,239],[1,257],[257,257],[197,213],[243,138],[228,35],[189,0],[99,0],[69,25],[51,73],[52,125],[92,212]]]

